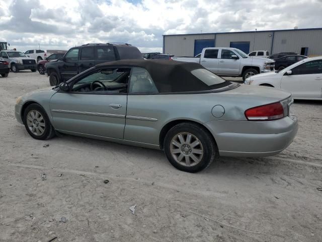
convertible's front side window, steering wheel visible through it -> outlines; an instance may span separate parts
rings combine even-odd
[[[97,70],[74,83],[71,90],[74,92],[126,93],[130,70],[129,68]]]

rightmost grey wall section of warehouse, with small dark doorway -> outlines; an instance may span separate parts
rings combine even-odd
[[[322,54],[322,30],[278,31],[274,34],[273,52],[301,53],[308,47],[308,55]]]

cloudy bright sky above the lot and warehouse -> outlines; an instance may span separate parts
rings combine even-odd
[[[164,34],[319,28],[322,0],[0,0],[0,41],[20,51],[125,42],[162,52]]]

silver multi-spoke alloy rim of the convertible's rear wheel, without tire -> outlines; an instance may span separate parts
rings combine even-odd
[[[175,161],[183,166],[197,165],[204,154],[201,141],[190,133],[175,135],[171,140],[170,151]]]

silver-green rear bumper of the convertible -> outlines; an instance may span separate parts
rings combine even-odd
[[[220,156],[270,156],[286,149],[293,141],[296,116],[272,121],[215,120],[205,123],[212,132]]]

